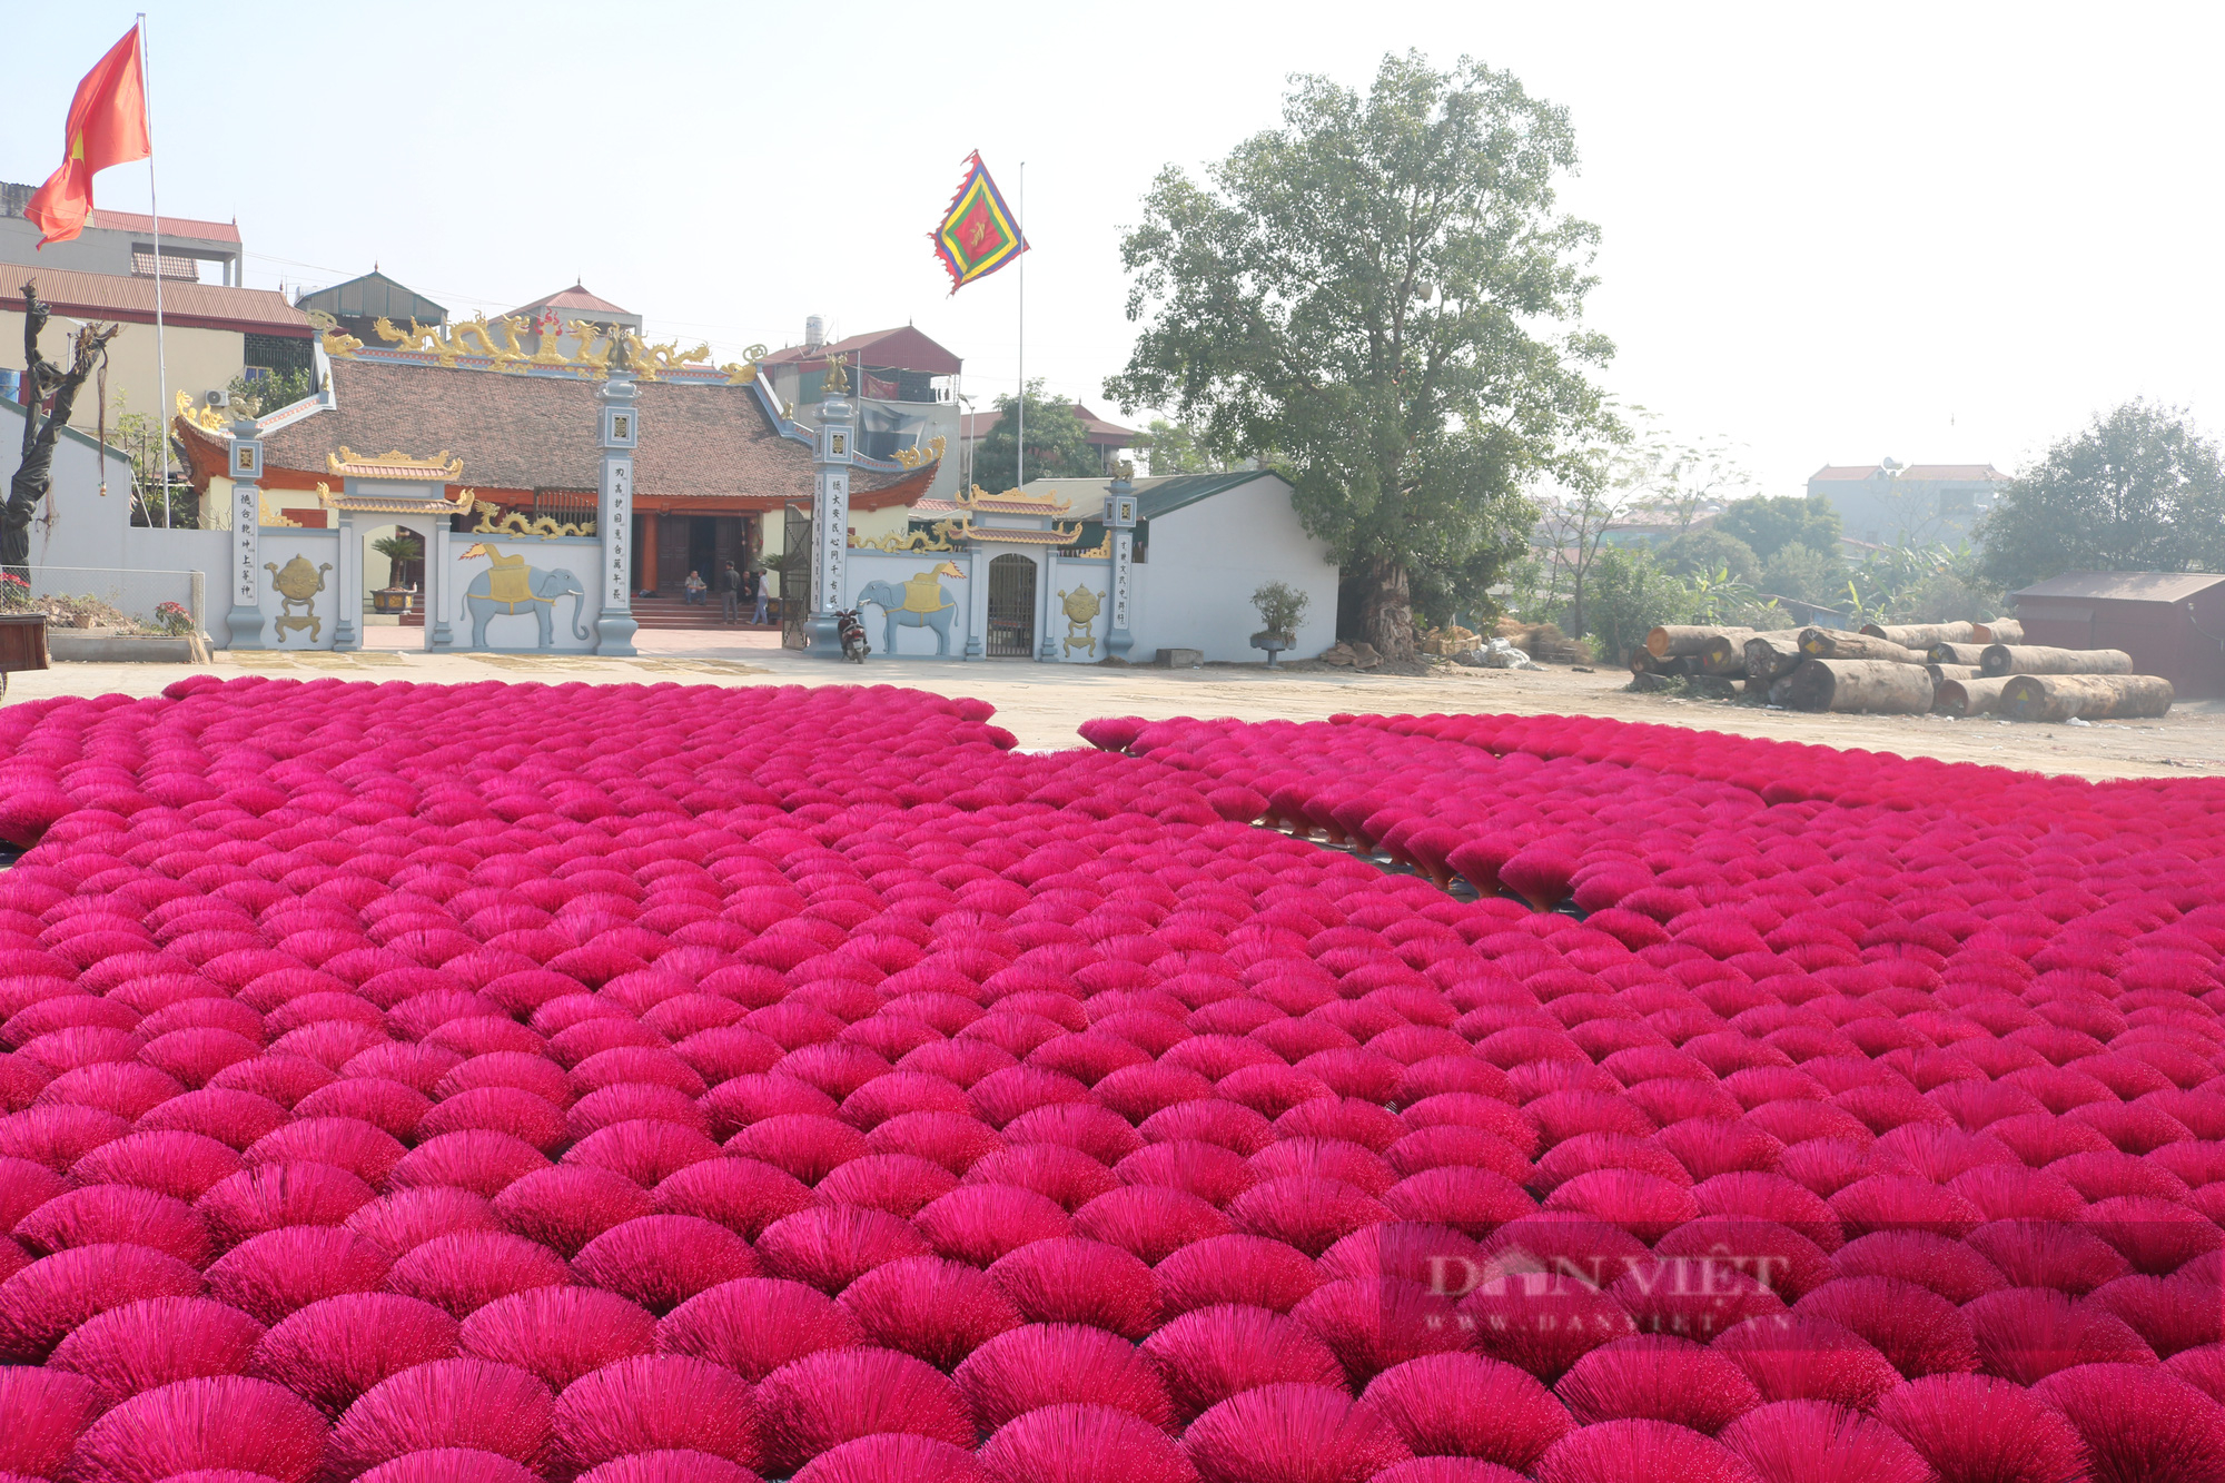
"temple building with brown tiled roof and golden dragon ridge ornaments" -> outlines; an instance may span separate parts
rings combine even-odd
[[[409,347],[372,347],[327,323],[323,390],[260,419],[265,523],[329,528],[334,470],[400,452],[458,465],[445,488],[452,499],[469,497],[458,534],[592,534],[599,381],[630,352],[643,434],[627,590],[652,595],[636,617],[665,606],[681,621],[714,617],[716,608],[681,608],[690,570],[712,581],[728,561],[781,566],[790,512],[812,503],[812,432],[781,416],[754,365],[712,367],[708,352],[645,345],[627,327],[619,338],[590,330],[585,347],[567,334],[527,352],[516,325],[510,316],[421,325]],[[225,416],[180,405],[176,428],[202,508],[227,512]],[[937,454],[859,456],[852,530],[868,539],[901,530],[908,505],[934,483]],[[363,532],[367,543],[385,537]],[[389,563],[374,559],[369,570],[376,588]]]

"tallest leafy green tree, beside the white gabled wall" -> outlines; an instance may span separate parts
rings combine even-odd
[[[1144,330],[1106,394],[1264,452],[1386,655],[1413,652],[1417,590],[1489,603],[1524,488],[1586,479],[1571,443],[1611,421],[1573,169],[1566,111],[1511,73],[1386,56],[1364,96],[1295,78],[1204,183],[1164,169],[1121,243]]]

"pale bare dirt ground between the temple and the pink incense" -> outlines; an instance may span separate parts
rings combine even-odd
[[[378,630],[374,630],[378,632]],[[400,637],[405,630],[396,630]],[[412,632],[414,637],[414,632]],[[1237,717],[1248,721],[1308,721],[1353,713],[1473,710],[1515,715],[1600,715],[1624,721],[1693,726],[1749,737],[1820,742],[1905,757],[1985,762],[2076,777],[2183,777],[2225,773],[2225,704],[2187,701],[2156,721],[2098,721],[2094,726],[2020,726],[1991,717],[1804,715],[1727,701],[1631,695],[1629,675],[1544,670],[1464,670],[1437,666],[1428,675],[1362,675],[1304,666],[1297,672],[1264,666],[1206,666],[1199,670],[1099,668],[1032,664],[1026,659],[952,664],[886,661],[863,668],[805,659],[754,632],[643,632],[639,659],[538,655],[425,655],[374,648],[356,655],[220,652],[209,672],[285,675],[314,679],[414,679],[472,684],[485,679],[541,679],[547,684],[892,684],[937,695],[977,695],[997,706],[997,721],[1026,748],[1077,746],[1075,726],[1097,715]],[[11,675],[4,704],[49,695],[154,695],[198,666],[176,664],[56,664],[51,670]]]

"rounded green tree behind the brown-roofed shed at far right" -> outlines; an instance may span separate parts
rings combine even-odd
[[[2225,570],[2225,465],[2178,407],[2127,401],[2063,439],[1978,519],[1985,574]]]

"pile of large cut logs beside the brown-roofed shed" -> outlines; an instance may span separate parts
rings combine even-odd
[[[1858,632],[1680,623],[1649,632],[1629,664],[1640,677],[1742,677],[1749,697],[1793,710],[2098,721],[2172,708],[2172,684],[2134,675],[2120,648],[2040,648],[2023,637],[2016,619],[1867,623]]]

